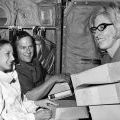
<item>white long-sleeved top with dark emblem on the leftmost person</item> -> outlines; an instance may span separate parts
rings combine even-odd
[[[21,98],[21,88],[16,71],[0,71],[0,118],[4,120],[35,120],[37,106],[34,101]]]

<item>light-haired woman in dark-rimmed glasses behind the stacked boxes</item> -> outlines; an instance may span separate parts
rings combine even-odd
[[[100,7],[90,17],[90,31],[102,54],[102,62],[120,61],[120,8],[115,3]],[[103,53],[108,54],[103,54]]]

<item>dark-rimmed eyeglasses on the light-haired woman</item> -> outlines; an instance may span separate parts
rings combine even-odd
[[[90,31],[91,31],[92,33],[95,33],[96,30],[103,31],[103,30],[106,29],[107,26],[109,26],[109,25],[113,25],[113,23],[102,23],[102,24],[98,25],[97,27],[91,27],[91,28],[90,28]]]

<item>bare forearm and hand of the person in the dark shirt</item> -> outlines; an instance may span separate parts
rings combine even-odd
[[[54,75],[46,79],[42,85],[26,93],[29,100],[42,99],[50,92],[55,83],[65,82],[68,78],[65,75]]]

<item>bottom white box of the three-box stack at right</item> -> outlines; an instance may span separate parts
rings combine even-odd
[[[120,120],[120,105],[90,106],[92,120]]]

